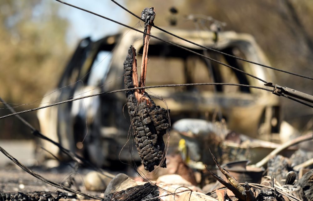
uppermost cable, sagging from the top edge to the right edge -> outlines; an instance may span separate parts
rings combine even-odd
[[[58,0],[56,0],[58,1]],[[131,12],[130,10],[128,10],[127,8],[123,7],[121,4],[117,3],[116,1],[114,0],[111,0],[113,3],[115,3],[116,5],[118,5],[119,7],[121,7],[122,9],[124,9],[125,11],[127,11],[128,13],[130,13],[131,15],[135,16],[136,18],[141,19],[141,17],[139,17],[138,15],[136,15],[135,13]],[[231,55],[231,54],[227,54],[227,53],[224,53],[224,52],[221,52],[221,51],[218,51],[217,49],[213,49],[213,48],[209,48],[209,47],[205,47],[203,45],[200,45],[200,44],[197,44],[197,43],[194,43],[190,40],[187,40],[187,39],[184,39],[178,35],[175,35],[165,29],[162,29],[154,24],[151,24],[151,26],[153,26],[154,28],[156,29],[159,29],[160,31],[166,33],[166,34],[170,34],[171,36],[174,36],[178,39],[181,39],[183,41],[186,41],[187,43],[190,43],[190,44],[193,44],[193,45],[196,45],[198,47],[201,47],[201,48],[204,48],[204,49],[208,49],[208,50],[211,50],[213,52],[217,52],[219,54],[223,54],[223,55],[226,55],[226,56],[229,56],[229,57],[232,57],[232,58],[235,58],[235,59],[239,59],[239,60],[242,60],[242,61],[245,61],[245,62],[248,62],[248,63],[251,63],[251,64],[255,64],[255,65],[259,65],[259,66],[262,66],[262,67],[265,67],[265,68],[269,68],[269,69],[272,69],[272,70],[276,70],[276,71],[280,71],[280,72],[283,72],[283,73],[287,73],[287,74],[290,74],[290,75],[295,75],[295,76],[299,76],[299,77],[302,77],[302,78],[306,78],[306,79],[310,79],[310,80],[313,80],[312,77],[309,77],[309,76],[305,76],[305,75],[300,75],[300,74],[297,74],[297,73],[293,73],[293,72],[290,72],[290,71],[287,71],[287,70],[281,70],[281,69],[278,69],[278,68],[274,68],[274,67],[271,67],[271,66],[268,66],[268,65],[264,65],[264,64],[260,64],[260,63],[257,63],[257,62],[253,62],[253,61],[250,61],[248,59],[244,59],[244,58],[241,58],[241,57],[237,57],[237,56],[234,56],[234,55]]]

